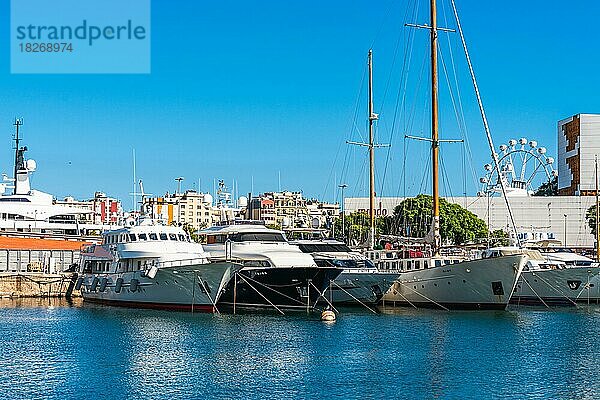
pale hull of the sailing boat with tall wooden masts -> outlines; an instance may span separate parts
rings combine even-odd
[[[386,306],[504,309],[526,262],[511,255],[401,272],[383,300]]]

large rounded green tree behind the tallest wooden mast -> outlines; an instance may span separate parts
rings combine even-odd
[[[420,194],[397,205],[385,226],[391,227],[391,234],[424,237],[431,229],[432,214],[431,196]],[[486,238],[488,230],[472,212],[440,199],[440,234],[443,242],[460,245]]]

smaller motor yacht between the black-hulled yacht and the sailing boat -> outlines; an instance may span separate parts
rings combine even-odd
[[[333,304],[377,305],[398,278],[398,273],[379,271],[371,260],[352,251],[344,242],[320,239],[290,243],[311,254],[317,265],[344,269],[325,292],[325,297]]]

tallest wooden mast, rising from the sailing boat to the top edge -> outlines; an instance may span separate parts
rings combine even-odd
[[[440,236],[440,193],[439,193],[439,134],[438,134],[438,74],[437,74],[437,15],[436,0],[431,0],[431,169],[433,172],[433,239],[434,252],[439,254],[442,245]]]

